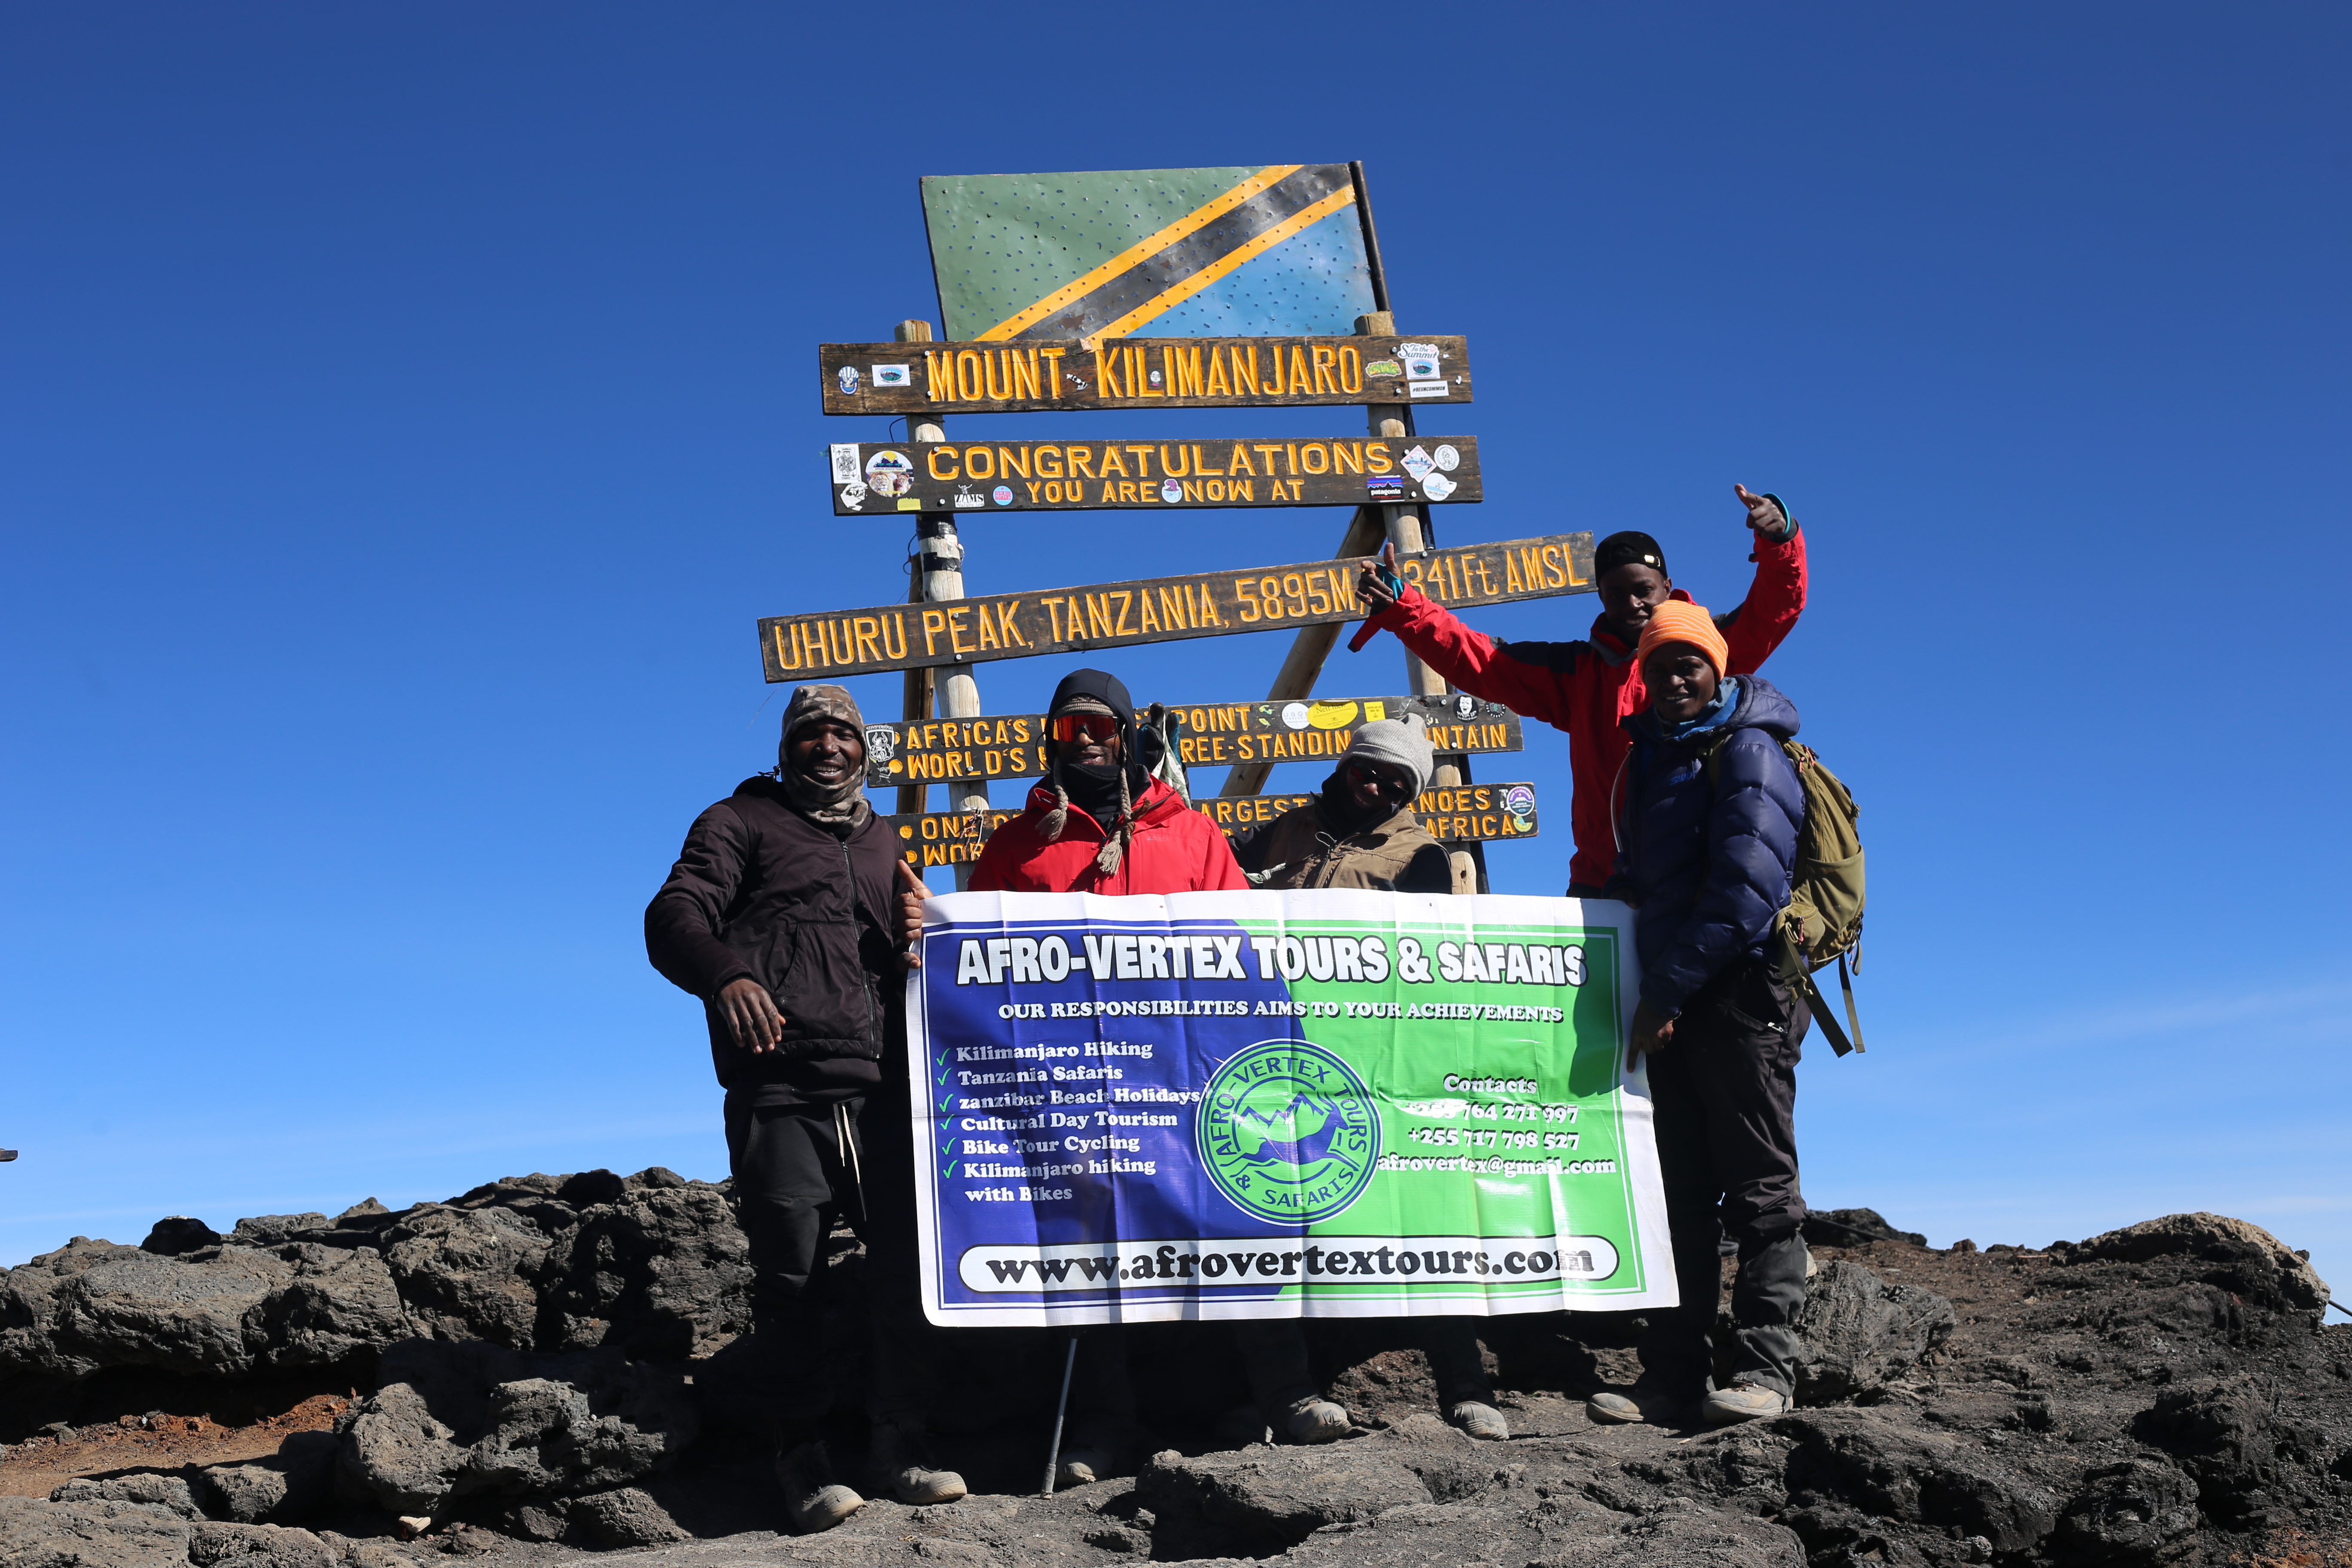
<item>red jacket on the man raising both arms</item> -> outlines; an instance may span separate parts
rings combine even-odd
[[[1731,644],[1726,675],[1752,675],[1762,668],[1804,611],[1804,529],[1790,527],[1788,538],[1778,541],[1755,534],[1755,562],[1757,576],[1748,599],[1715,616],[1717,630]],[[1691,599],[1679,588],[1672,597]],[[1461,616],[1432,604],[1409,583],[1404,595],[1371,623],[1395,632],[1421,663],[1470,696],[1569,731],[1569,773],[1576,785],[1576,799],[1569,804],[1576,827],[1569,882],[1595,891],[1604,886],[1616,870],[1609,788],[1632,748],[1618,722],[1649,708],[1649,689],[1632,649],[1599,618],[1592,621],[1588,642],[1496,642],[1472,632]]]

